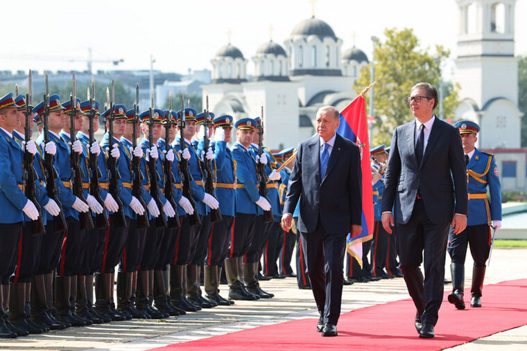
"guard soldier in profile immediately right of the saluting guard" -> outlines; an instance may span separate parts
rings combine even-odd
[[[236,122],[236,143],[232,147],[232,156],[236,161],[236,219],[231,235],[228,258],[225,259],[225,275],[229,284],[231,300],[257,300],[260,297],[251,294],[239,280],[238,260],[247,253],[252,244],[257,208],[270,210],[271,205],[259,195],[257,188],[256,160],[250,152],[250,145],[256,129],[256,121],[242,118]],[[264,156],[264,161],[266,161]],[[252,270],[254,273],[254,269]],[[245,277],[244,277],[245,278]]]

